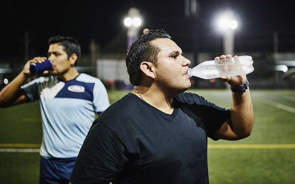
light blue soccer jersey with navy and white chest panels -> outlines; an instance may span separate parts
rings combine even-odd
[[[77,157],[95,112],[109,107],[102,82],[83,73],[70,81],[60,81],[57,76],[39,77],[22,89],[28,102],[40,102],[43,158]]]

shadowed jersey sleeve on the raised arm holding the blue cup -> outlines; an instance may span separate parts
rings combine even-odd
[[[24,84],[21,89],[24,91],[25,95],[27,96],[27,102],[34,102],[39,100],[39,84],[42,81],[42,77],[35,79],[27,84]]]

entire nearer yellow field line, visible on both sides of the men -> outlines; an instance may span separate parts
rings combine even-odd
[[[0,147],[40,148],[41,144],[0,144]],[[295,144],[209,144],[208,148],[295,148]]]

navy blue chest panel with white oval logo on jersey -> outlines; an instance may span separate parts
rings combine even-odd
[[[76,79],[63,81],[65,86],[55,98],[78,98],[93,101],[94,83],[80,82]]]

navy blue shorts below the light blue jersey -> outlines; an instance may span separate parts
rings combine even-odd
[[[69,184],[69,179],[76,158],[52,158],[41,157],[40,161],[40,184]]]

